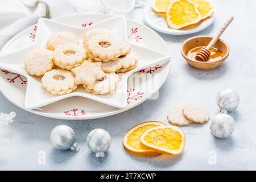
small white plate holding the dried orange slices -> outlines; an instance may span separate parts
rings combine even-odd
[[[212,24],[214,21],[214,16],[212,16],[204,20],[203,22],[201,22],[196,27],[192,27],[184,30],[175,30],[167,26],[166,19],[162,15],[155,13],[155,11],[152,10],[151,5],[144,7],[143,13],[144,13],[145,22],[147,23],[148,26],[150,26],[156,31],[162,32],[164,34],[169,34],[169,35],[193,34],[209,27],[210,24]]]

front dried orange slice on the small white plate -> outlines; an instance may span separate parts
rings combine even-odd
[[[201,14],[196,5],[188,0],[174,0],[166,10],[168,27],[180,29],[200,22]]]

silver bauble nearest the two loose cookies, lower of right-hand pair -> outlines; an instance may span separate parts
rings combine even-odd
[[[228,138],[235,129],[235,121],[228,114],[217,114],[212,119],[210,130],[217,138]]]

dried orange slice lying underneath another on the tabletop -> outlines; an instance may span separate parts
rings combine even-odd
[[[141,143],[141,136],[142,134],[151,129],[152,127],[156,126],[164,126],[166,124],[158,121],[148,121],[143,122],[137,126],[134,126],[132,129],[130,129],[125,137],[123,137],[123,147],[131,154],[135,155],[143,155],[143,156],[155,156],[159,155],[160,152],[152,150],[151,148],[148,148],[144,146]]]

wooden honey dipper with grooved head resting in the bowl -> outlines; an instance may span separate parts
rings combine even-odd
[[[214,36],[214,38],[210,41],[207,47],[203,47],[196,53],[196,60],[197,61],[208,61],[210,59],[210,49],[216,44],[222,33],[226,30],[229,24],[233,21],[234,16],[231,16],[224,25],[218,30],[218,34]]]

